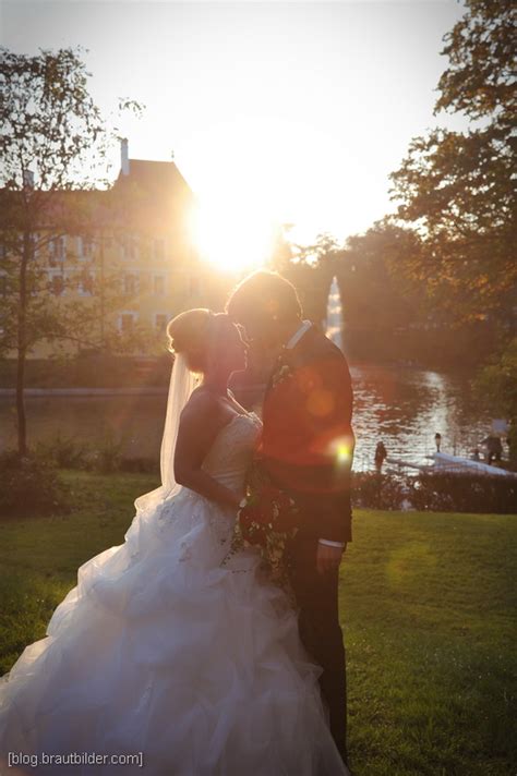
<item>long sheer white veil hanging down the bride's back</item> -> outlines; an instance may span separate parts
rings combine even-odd
[[[169,383],[169,396],[165,415],[164,436],[160,449],[161,485],[144,493],[135,500],[136,512],[153,509],[177,493],[181,485],[175,480],[175,449],[178,438],[181,411],[196,386],[196,376],[187,366],[183,353],[176,353]]]

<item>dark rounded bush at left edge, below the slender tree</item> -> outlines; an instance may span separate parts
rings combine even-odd
[[[69,490],[56,466],[37,456],[0,453],[0,517],[40,517],[69,511]]]

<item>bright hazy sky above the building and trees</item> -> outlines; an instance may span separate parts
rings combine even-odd
[[[146,106],[120,125],[130,158],[173,153],[207,250],[245,237],[258,254],[278,223],[300,242],[364,232],[395,209],[388,174],[411,138],[467,126],[433,117],[442,38],[464,13],[462,0],[0,0],[0,43],[87,48],[105,113],[122,96]]]

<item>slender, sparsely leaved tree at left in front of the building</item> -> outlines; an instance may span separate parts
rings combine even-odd
[[[60,299],[67,280],[61,278],[62,287],[59,277],[50,282],[43,259],[49,248],[56,262],[62,259],[65,235],[98,239],[100,214],[111,208],[116,216],[110,192],[93,190],[107,184],[100,171],[110,133],[88,94],[88,75],[80,52],[70,48],[56,53],[40,49],[34,57],[0,48],[0,350],[14,350],[16,357],[20,456],[27,452],[27,353],[43,339],[86,340],[99,303],[106,304],[118,282],[105,278],[103,293],[80,308]],[[119,107],[141,110],[131,100]]]

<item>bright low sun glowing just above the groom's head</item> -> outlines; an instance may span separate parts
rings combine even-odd
[[[201,258],[224,272],[264,266],[275,244],[276,225],[257,198],[221,191],[200,202],[192,218]]]

